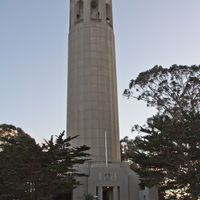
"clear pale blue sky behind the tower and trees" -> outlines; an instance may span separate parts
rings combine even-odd
[[[122,96],[154,65],[200,64],[199,0],[113,0],[120,135],[154,110]],[[69,0],[0,0],[0,124],[41,141],[66,126]],[[77,94],[78,98],[78,94]]]

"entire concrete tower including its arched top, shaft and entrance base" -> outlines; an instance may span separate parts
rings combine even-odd
[[[73,200],[149,200],[120,158],[112,0],[70,0],[68,44],[67,134],[91,147]]]

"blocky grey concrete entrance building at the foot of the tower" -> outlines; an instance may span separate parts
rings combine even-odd
[[[97,200],[158,200],[156,187],[140,190],[139,177],[129,163],[88,162],[78,167],[86,174],[79,179],[81,186],[73,191],[73,200],[86,200],[90,195]]]

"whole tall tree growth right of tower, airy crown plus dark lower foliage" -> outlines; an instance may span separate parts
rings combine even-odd
[[[137,95],[136,95],[137,94]],[[128,98],[157,108],[139,131],[134,151],[141,185],[158,185],[162,199],[197,200],[200,195],[200,66],[155,66],[131,80]],[[131,152],[131,153],[129,153]]]

